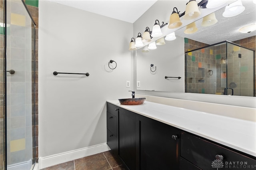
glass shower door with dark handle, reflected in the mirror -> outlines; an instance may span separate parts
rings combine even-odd
[[[254,51],[227,42],[226,95],[254,96]]]

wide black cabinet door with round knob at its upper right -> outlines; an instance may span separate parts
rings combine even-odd
[[[178,170],[180,130],[138,115],[140,170]],[[176,140],[172,135],[177,136]]]

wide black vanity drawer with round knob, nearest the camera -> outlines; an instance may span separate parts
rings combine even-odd
[[[180,156],[203,170],[244,170],[256,167],[256,160],[186,132],[180,133]],[[217,157],[223,160],[217,162]],[[222,166],[223,165],[223,166]]]

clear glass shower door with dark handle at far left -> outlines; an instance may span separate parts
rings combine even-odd
[[[21,0],[8,0],[6,6],[7,169],[26,170],[34,163],[32,149],[34,26]]]

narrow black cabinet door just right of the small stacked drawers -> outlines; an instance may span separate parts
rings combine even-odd
[[[119,156],[130,170],[136,169],[136,114],[119,109]]]

